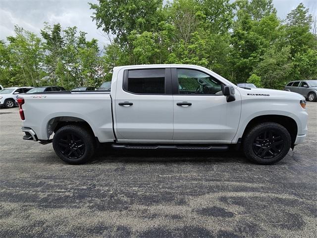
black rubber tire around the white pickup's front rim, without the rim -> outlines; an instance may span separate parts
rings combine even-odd
[[[284,147],[281,151],[281,153],[271,159],[262,159],[260,157],[258,157],[254,152],[253,152],[253,148],[252,148],[252,144],[254,139],[262,132],[264,131],[264,129],[274,129],[280,132],[280,135],[282,136],[282,138],[284,139],[285,143],[284,143]],[[275,123],[275,122],[264,122],[258,125],[255,125],[253,128],[251,128],[247,134],[244,136],[243,138],[243,152],[245,154],[245,156],[247,157],[247,159],[249,159],[250,161],[260,164],[260,165],[271,165],[274,164],[278,161],[280,161],[281,159],[283,159],[290,147],[291,147],[291,135],[288,132],[288,130],[282,126],[281,124]]]

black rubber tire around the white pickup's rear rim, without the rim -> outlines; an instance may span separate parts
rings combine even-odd
[[[85,153],[82,157],[80,157],[78,159],[69,159],[60,152],[59,146],[58,146],[58,140],[66,132],[72,132],[72,133],[76,134],[76,136],[81,138],[83,140],[83,142],[85,143],[85,147],[86,147]],[[88,162],[91,159],[91,157],[94,155],[95,148],[96,148],[96,140],[95,140],[94,135],[92,134],[92,132],[89,129],[87,129],[83,126],[79,126],[79,125],[62,126],[55,132],[54,137],[53,137],[53,149],[54,149],[56,155],[64,162],[71,164],[71,165],[80,165],[80,164],[84,164],[84,163]]]

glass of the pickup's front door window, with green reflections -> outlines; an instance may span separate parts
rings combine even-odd
[[[177,69],[179,94],[222,95],[221,83],[210,75],[193,69]]]

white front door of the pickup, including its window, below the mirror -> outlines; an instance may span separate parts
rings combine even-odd
[[[205,72],[172,68],[175,142],[230,143],[241,112],[240,96],[227,103],[223,84]]]

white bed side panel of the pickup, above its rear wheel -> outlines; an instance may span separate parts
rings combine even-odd
[[[42,92],[19,97],[25,101],[23,125],[31,127],[40,140],[50,138],[57,119],[87,122],[100,142],[114,139],[108,91]]]

